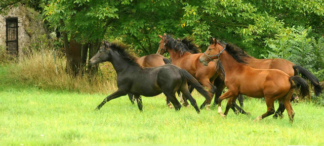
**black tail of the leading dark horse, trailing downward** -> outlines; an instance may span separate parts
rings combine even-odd
[[[209,92],[205,90],[205,88],[201,86],[200,83],[191,74],[189,74],[184,69],[180,69],[179,73],[183,80],[187,80],[187,82],[192,85],[201,95],[203,95],[205,99],[209,99]]]

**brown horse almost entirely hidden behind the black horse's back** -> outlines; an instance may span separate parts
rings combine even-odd
[[[150,54],[150,55],[146,55],[146,56],[142,56],[140,58],[137,59],[137,63],[143,67],[157,67],[157,66],[161,66],[161,65],[165,65],[165,64],[171,64],[171,61],[161,55],[158,54]],[[189,105],[188,102],[182,99],[180,91],[177,91],[178,96],[179,96],[179,100],[181,103],[185,103],[186,105]],[[128,93],[128,97],[131,101],[131,103],[134,105],[134,95],[132,93]],[[167,99],[167,106],[172,109],[172,105],[170,103],[170,101]]]

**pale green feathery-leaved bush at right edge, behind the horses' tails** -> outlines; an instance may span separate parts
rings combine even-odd
[[[323,37],[316,41],[309,36],[311,31],[311,27],[305,29],[301,26],[282,29],[274,38],[265,41],[271,49],[266,57],[286,59],[306,68],[323,69]]]

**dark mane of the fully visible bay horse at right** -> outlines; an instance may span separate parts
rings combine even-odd
[[[226,52],[230,54],[238,63],[242,64],[247,64],[246,58],[251,58],[247,53],[232,43],[226,44]]]

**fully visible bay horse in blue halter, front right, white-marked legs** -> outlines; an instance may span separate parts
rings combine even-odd
[[[291,122],[294,120],[294,111],[290,103],[291,96],[295,88],[300,89],[301,98],[309,96],[309,86],[307,82],[299,76],[290,76],[277,69],[255,69],[247,65],[247,62],[239,56],[235,45],[228,43],[225,47],[217,45],[214,41],[207,51],[199,58],[201,63],[209,59],[220,59],[225,70],[225,85],[228,90],[218,99],[218,113],[226,117],[228,110],[235,102],[238,93],[253,98],[264,98],[267,105],[267,112],[257,117],[254,121],[259,121],[274,114],[274,101],[284,103]],[[223,114],[221,103],[228,99],[225,112]]]

